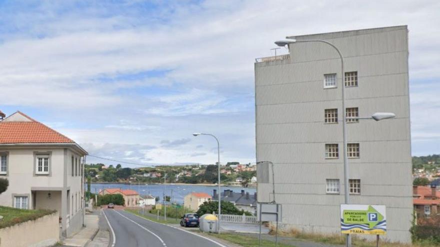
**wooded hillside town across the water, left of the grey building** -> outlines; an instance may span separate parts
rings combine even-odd
[[[215,184],[216,165],[155,166],[142,168],[122,168],[120,164],[86,164],[85,176],[92,183],[182,183]],[[165,176],[166,175],[166,176]],[[222,184],[228,186],[255,187],[256,165],[228,162],[220,170]]]

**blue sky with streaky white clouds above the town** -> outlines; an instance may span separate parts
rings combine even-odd
[[[440,1],[1,1],[0,110],[90,154],[255,161],[253,62],[287,35],[407,24],[412,154],[440,153]],[[89,157],[88,162],[98,162]]]

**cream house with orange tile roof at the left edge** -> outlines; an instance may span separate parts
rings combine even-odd
[[[0,177],[9,187],[0,205],[56,210],[63,236],[84,221],[83,162],[87,152],[22,112],[0,121]]]

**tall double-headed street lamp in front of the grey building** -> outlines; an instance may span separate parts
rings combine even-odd
[[[332,43],[326,41],[326,40],[321,40],[321,39],[308,39],[308,40],[296,40],[296,39],[292,39],[292,40],[280,40],[280,41],[275,41],[275,44],[278,46],[286,46],[292,43],[297,43],[297,42],[321,42],[321,43],[326,43],[328,45],[330,45],[331,47],[333,47],[336,51],[337,54],[339,55],[340,58],[340,85],[342,88],[342,134],[343,134],[343,167],[344,167],[344,202],[345,204],[349,204],[349,192],[348,192],[348,186],[349,186],[349,181],[348,181],[348,157],[347,157],[347,131],[346,131],[346,112],[345,112],[345,85],[344,85],[344,69],[343,69],[343,57],[342,54],[340,53],[339,49],[334,46]],[[360,119],[374,119],[376,121],[379,120],[383,120],[383,119],[388,119],[388,118],[393,118],[395,117],[394,113],[374,113],[371,117],[369,118],[360,118]],[[355,119],[359,119],[359,118],[355,118]],[[347,234],[346,236],[346,246],[347,247],[351,247],[351,238],[350,235]]]

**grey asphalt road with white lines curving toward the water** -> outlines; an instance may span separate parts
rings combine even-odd
[[[110,247],[225,247],[185,230],[121,210],[104,209],[103,213],[110,225]]]

